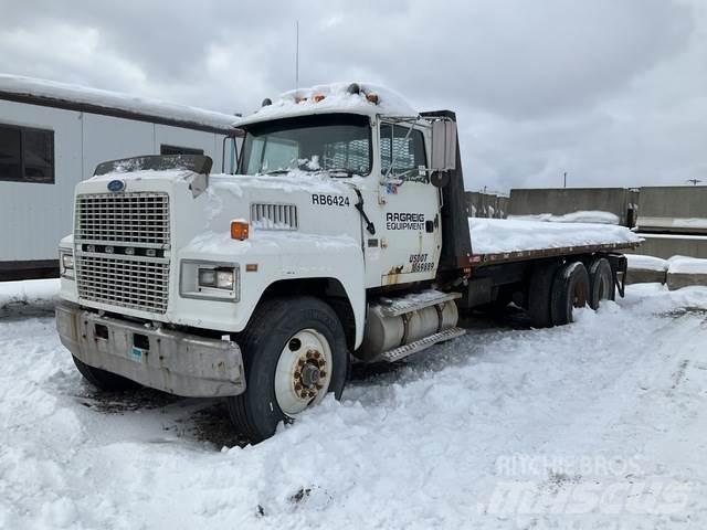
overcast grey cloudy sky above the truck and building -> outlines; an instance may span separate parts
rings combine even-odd
[[[456,110],[467,189],[707,183],[703,0],[0,0],[0,72],[226,113],[369,81]]]

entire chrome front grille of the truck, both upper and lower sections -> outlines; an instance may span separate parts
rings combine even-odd
[[[78,195],[74,255],[80,299],[166,312],[169,223],[166,193]]]

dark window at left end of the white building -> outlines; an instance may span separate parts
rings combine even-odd
[[[54,131],[0,125],[0,181],[54,183]]]

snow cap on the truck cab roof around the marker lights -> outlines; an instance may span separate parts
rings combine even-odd
[[[358,85],[359,91],[350,87]],[[400,94],[371,83],[330,83],[285,92],[270,105],[236,121],[236,127],[264,120],[310,114],[350,113],[366,116],[418,116]]]

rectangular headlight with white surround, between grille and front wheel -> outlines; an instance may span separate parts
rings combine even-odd
[[[239,265],[183,259],[179,293],[183,298],[239,301]]]

